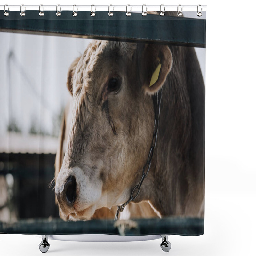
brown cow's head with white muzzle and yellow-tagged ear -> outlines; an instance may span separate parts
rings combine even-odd
[[[72,121],[55,186],[64,220],[90,219],[130,197],[152,142],[152,94],[171,66],[167,46],[109,41],[94,41],[72,63]]]

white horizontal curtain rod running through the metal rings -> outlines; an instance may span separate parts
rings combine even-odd
[[[161,10],[166,11],[177,11],[177,5],[161,5]],[[6,5],[6,11],[20,11],[20,5]],[[92,8],[92,9],[91,9]],[[124,11],[128,8],[129,12],[141,12],[142,5],[75,5],[75,11]],[[0,5],[0,10],[4,10],[4,5]],[[22,11],[38,11],[39,5],[22,5]],[[56,5],[41,5],[41,11],[56,11]],[[144,11],[160,11],[160,5],[144,5]],[[186,11],[197,11],[197,5],[179,5],[179,10],[182,12]],[[73,5],[59,5],[58,11],[73,11]],[[200,5],[200,12],[206,11],[206,5]]]

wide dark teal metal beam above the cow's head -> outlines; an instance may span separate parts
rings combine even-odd
[[[78,12],[76,17],[70,11],[47,11],[39,16],[39,11],[27,11],[24,17],[18,11],[10,11],[4,16],[0,11],[0,31],[33,33],[54,36],[69,36],[127,42],[157,42],[180,46],[205,47],[206,20],[184,17],[160,16],[126,12]]]

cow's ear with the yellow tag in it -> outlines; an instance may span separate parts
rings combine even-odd
[[[164,84],[172,68],[172,53],[167,45],[146,44],[140,47],[140,81],[145,92],[154,94]]]

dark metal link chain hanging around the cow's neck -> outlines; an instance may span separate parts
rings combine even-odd
[[[136,197],[140,193],[140,188],[141,188],[142,182],[143,182],[143,180],[148,175],[149,169],[151,167],[151,161],[152,161],[152,158],[153,158],[154,149],[156,147],[157,134],[158,134],[158,126],[159,126],[159,116],[160,116],[160,109],[161,109],[161,100],[162,100],[162,89],[160,89],[157,92],[157,95],[156,95],[154,132],[153,132],[153,138],[152,138],[152,145],[151,145],[151,148],[150,148],[149,154],[148,154],[147,163],[144,165],[144,167],[142,169],[142,176],[140,178],[140,182],[138,183],[138,185],[136,185],[132,189],[132,193],[131,193],[131,196],[130,196],[129,200],[127,200],[124,204],[122,204],[120,206],[117,206],[117,211],[116,211],[116,215],[115,215],[115,219],[114,220],[118,219],[119,212],[123,212],[124,211],[124,207],[127,204],[129,204],[130,202],[132,202],[132,201],[134,201],[136,199]],[[145,170],[147,170],[147,171],[145,172]]]

